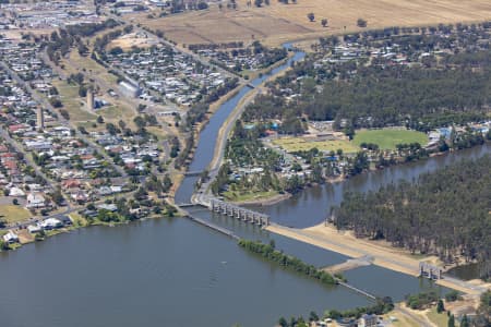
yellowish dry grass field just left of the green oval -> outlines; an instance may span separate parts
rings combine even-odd
[[[343,149],[345,154],[356,153],[359,147],[349,141],[306,141],[302,137],[282,137],[273,141],[273,144],[283,147],[286,152],[292,153],[298,150],[310,150],[316,147],[323,152],[336,152]]]

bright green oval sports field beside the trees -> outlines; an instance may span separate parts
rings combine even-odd
[[[383,130],[363,130],[357,131],[354,144],[360,146],[361,143],[373,143],[382,149],[395,149],[397,144],[402,143],[428,143],[427,134],[409,130],[383,129]]]

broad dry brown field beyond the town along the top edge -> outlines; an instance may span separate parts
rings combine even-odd
[[[219,11],[212,5],[206,11],[161,19],[148,20],[147,13],[133,17],[153,29],[164,31],[168,38],[181,45],[253,39],[278,45],[285,40],[359,31],[356,22],[360,17],[368,21],[367,28],[491,19],[489,0],[298,0],[297,4],[271,0],[271,5],[262,8],[248,8],[246,0],[237,1],[238,10],[227,10],[224,5]],[[307,19],[310,12],[315,15],[314,22]],[[322,19],[328,20],[327,27],[322,27]]]

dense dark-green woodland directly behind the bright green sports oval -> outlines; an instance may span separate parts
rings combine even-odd
[[[407,124],[428,131],[441,124],[478,120],[491,104],[490,89],[488,63],[480,73],[471,72],[470,68],[369,66],[359,69],[349,83],[326,82],[323,90],[300,108],[313,120],[344,118],[354,128]],[[447,114],[448,121],[442,121]],[[436,116],[441,123],[434,124]]]

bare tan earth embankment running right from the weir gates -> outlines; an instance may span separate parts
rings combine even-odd
[[[324,223],[306,229],[271,225],[266,228],[266,230],[328,251],[340,253],[352,258],[371,256],[373,258],[373,264],[376,266],[414,277],[419,276],[420,262],[426,262],[433,265],[440,264],[436,256],[414,256],[408,251],[394,247],[384,241],[357,239],[350,231],[338,231],[333,226],[326,226]],[[483,289],[491,286],[479,281],[465,282],[456,279],[440,279],[436,283],[469,294],[478,294]]]

